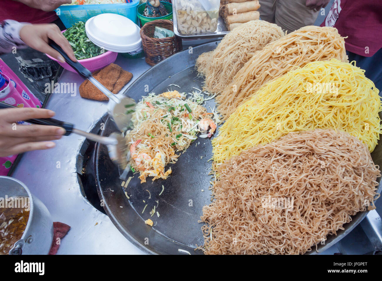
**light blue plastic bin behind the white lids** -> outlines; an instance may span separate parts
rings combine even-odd
[[[83,21],[85,23],[89,18],[104,13],[113,13],[125,16],[137,24],[138,4],[139,0],[133,0],[131,3],[120,4],[64,5],[59,6],[56,9],[56,13],[66,28],[70,28],[78,21]]]

